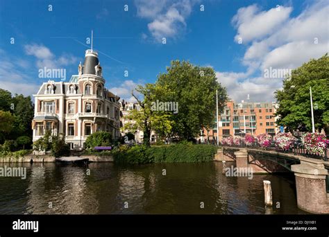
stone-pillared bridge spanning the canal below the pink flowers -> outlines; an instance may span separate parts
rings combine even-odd
[[[293,172],[298,208],[310,213],[329,213],[329,161],[327,154],[310,157],[303,152],[223,146],[216,161],[231,161],[253,173]]]

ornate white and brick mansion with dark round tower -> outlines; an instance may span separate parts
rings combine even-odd
[[[82,148],[96,131],[120,136],[119,96],[104,87],[106,80],[96,51],[85,51],[85,62],[69,82],[44,82],[35,97],[33,141],[44,135],[64,134],[71,148]]]

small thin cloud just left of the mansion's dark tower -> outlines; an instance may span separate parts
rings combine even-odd
[[[26,44],[24,49],[27,55],[33,55],[37,58],[36,65],[39,68],[62,68],[78,62],[78,58],[69,54],[63,54],[56,58],[50,49],[39,44]]]

